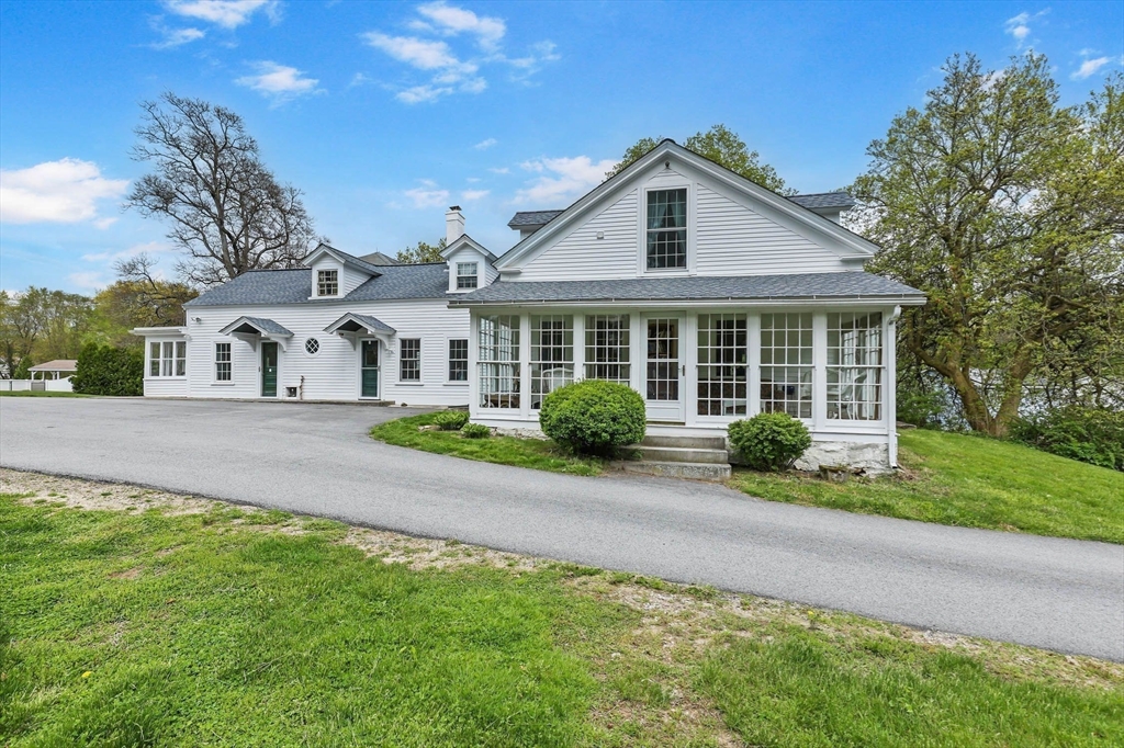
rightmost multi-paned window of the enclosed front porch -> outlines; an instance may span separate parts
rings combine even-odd
[[[827,418],[882,418],[882,314],[827,314]]]

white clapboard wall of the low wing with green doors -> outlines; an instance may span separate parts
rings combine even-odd
[[[242,316],[272,319],[292,331],[292,338],[279,350],[278,389],[303,385],[305,400],[357,400],[360,394],[360,353],[352,344],[324,331],[347,312],[370,314],[397,330],[391,349],[383,347],[381,396],[383,400],[418,405],[460,405],[469,401],[466,384],[448,384],[448,338],[469,337],[469,312],[448,309],[444,299],[419,299],[370,303],[312,303],[254,307],[193,307],[189,317],[200,322],[188,326],[188,381],[194,398],[259,398],[261,395],[260,353],[244,340],[220,335],[218,330]],[[319,341],[316,354],[305,344]],[[422,340],[422,384],[398,382],[398,340]],[[215,344],[229,343],[233,381],[215,381]],[[303,377],[303,382],[301,381]],[[148,394],[146,390],[146,394]]]

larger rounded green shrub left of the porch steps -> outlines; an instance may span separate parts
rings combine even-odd
[[[626,384],[586,380],[554,390],[538,412],[543,434],[565,449],[611,456],[644,438],[644,400]]]

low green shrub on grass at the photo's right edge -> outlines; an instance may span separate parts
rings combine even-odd
[[[1059,408],[1017,419],[1016,441],[1090,465],[1124,471],[1124,412],[1107,408]]]

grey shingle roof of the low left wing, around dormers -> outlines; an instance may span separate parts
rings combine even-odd
[[[342,299],[309,299],[312,271],[250,271],[185,307],[237,307],[242,304],[317,304],[325,301],[381,301],[391,299],[444,299],[448,293],[448,271],[444,263],[428,265],[382,265]]]

